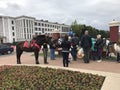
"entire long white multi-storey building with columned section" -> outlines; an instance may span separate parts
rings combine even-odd
[[[31,40],[35,34],[51,35],[54,29],[58,29],[60,34],[67,34],[70,26],[28,16],[0,16],[0,43]]]

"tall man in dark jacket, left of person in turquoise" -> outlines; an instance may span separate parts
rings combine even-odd
[[[89,54],[92,46],[91,37],[88,34],[88,31],[85,31],[85,34],[81,38],[81,47],[84,51],[84,62],[89,63]]]

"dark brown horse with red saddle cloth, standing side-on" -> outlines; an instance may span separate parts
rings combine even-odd
[[[26,52],[34,52],[35,55],[35,62],[36,64],[39,64],[38,57],[39,57],[39,51],[41,46],[47,42],[47,37],[45,35],[38,35],[36,36],[31,42],[28,44],[27,41],[19,42],[16,45],[16,56],[17,56],[17,64],[21,64],[21,54],[23,51]],[[27,46],[25,46],[27,44]]]

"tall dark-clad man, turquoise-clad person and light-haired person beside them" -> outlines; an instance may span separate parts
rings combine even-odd
[[[81,47],[84,51],[84,62],[89,63],[90,54],[91,59],[97,59],[98,62],[101,62],[104,44],[105,41],[101,38],[100,34],[98,34],[97,38],[95,39],[89,36],[88,31],[85,31],[85,34],[81,38]]]

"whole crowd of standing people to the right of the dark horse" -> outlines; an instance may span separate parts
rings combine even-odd
[[[78,47],[83,49],[84,52],[84,63],[89,63],[90,59],[98,60],[101,62],[103,46],[105,45],[105,40],[102,39],[101,35],[98,34],[96,38],[93,38],[89,35],[89,32],[86,30],[84,35],[81,37],[81,40],[74,34],[72,37],[65,35],[60,43],[60,47],[62,48],[62,56],[63,56],[63,66],[69,66],[69,55],[71,54],[74,61],[77,60],[77,51]],[[43,45],[43,53],[44,53],[44,63],[47,62],[47,43]],[[56,42],[52,38],[49,43],[50,48],[50,59],[55,60],[55,48]]]

